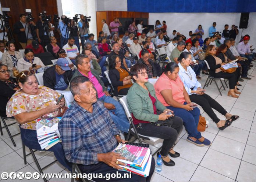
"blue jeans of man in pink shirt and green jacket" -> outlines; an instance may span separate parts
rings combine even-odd
[[[100,97],[99,100],[102,100],[104,103],[110,103],[115,105],[115,109],[109,110],[111,111],[109,112],[110,116],[119,130],[128,133],[130,123],[127,119],[122,105],[118,101],[114,100],[112,97],[106,95]]]

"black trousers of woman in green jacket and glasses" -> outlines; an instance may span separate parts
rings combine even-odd
[[[182,119],[178,116],[174,116],[171,127],[155,126],[151,123],[141,123],[141,129],[138,128],[138,125],[135,125],[135,127],[139,134],[164,139],[160,154],[167,156],[182,129],[182,125]]]

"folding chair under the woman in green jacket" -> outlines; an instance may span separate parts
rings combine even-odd
[[[125,114],[130,122],[130,128],[129,128],[129,131],[128,131],[128,135],[126,137],[126,140],[129,139],[130,137],[130,134],[134,135],[134,137],[138,138],[139,142],[142,144],[142,141],[141,141],[141,138],[143,140],[150,140],[152,142],[156,142],[158,140],[160,140],[160,138],[156,138],[156,137],[149,137],[149,136],[145,136],[145,135],[140,135],[138,134],[137,130],[136,130],[136,127],[134,126],[134,123],[132,122],[132,116],[131,116],[131,113],[128,109],[128,104],[127,104],[127,100],[126,100],[126,96],[123,96],[122,98],[120,98],[120,103],[122,104],[122,106],[124,107],[124,110],[125,110]],[[161,149],[161,147],[155,152],[153,153],[153,155],[155,155],[159,150]],[[152,156],[153,156],[152,155]]]

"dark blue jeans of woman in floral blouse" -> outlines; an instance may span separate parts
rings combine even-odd
[[[36,138],[36,130],[29,130],[29,129],[21,129],[21,140],[25,146],[31,149],[35,149],[38,151],[46,151],[45,149],[41,149],[38,139]],[[53,145],[51,148],[49,148],[47,151],[51,151],[54,153],[54,156],[56,159],[69,171],[72,169],[72,163],[68,162],[65,158],[63,146],[60,142],[58,142],[56,145]],[[49,161],[52,162],[52,161]]]

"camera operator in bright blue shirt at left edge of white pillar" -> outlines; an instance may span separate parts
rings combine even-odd
[[[60,46],[63,47],[65,44],[68,43],[69,33],[68,33],[68,27],[70,26],[70,23],[68,22],[68,18],[65,15],[61,15],[61,22],[59,22],[59,30],[61,33],[61,39]]]

